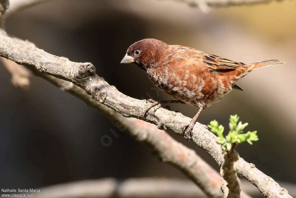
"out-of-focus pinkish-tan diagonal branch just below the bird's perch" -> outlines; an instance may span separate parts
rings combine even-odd
[[[17,72],[18,67],[24,67],[13,61],[7,60],[6,58],[1,57],[1,59],[6,60],[5,64],[8,68],[14,68],[14,70],[9,70],[9,72]],[[28,70],[32,68],[29,67],[25,69]],[[58,79],[44,73],[36,72],[34,69],[32,69],[32,72],[56,85],[61,90],[78,97],[87,105],[104,113],[104,115],[106,115],[116,127],[120,128],[120,131],[127,130],[126,132],[128,132],[137,141],[148,143],[153,150],[158,152],[162,161],[168,162],[182,170],[185,175],[191,178],[194,183],[196,183],[197,186],[199,186],[202,191],[207,194],[208,197],[223,197],[223,193],[220,189],[221,178],[218,172],[200,158],[195,151],[174,140],[165,131],[157,129],[157,127],[151,123],[147,123],[136,118],[123,117],[114,110],[92,99],[91,96],[88,95],[82,88],[71,82]],[[12,73],[12,76],[13,75],[14,74]],[[242,197],[248,198],[249,196],[242,193]]]

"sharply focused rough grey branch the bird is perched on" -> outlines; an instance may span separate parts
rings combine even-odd
[[[114,86],[110,86],[103,78],[95,74],[95,67],[91,63],[76,63],[65,57],[51,55],[5,34],[0,34],[0,55],[18,64],[28,65],[38,72],[70,81],[83,88],[96,101],[125,117],[139,118],[180,135],[183,133],[182,126],[190,121],[190,118],[181,113],[164,108],[159,108],[155,115],[148,112],[148,115],[144,116],[142,112],[149,103],[146,100],[126,96]],[[221,155],[221,146],[216,143],[216,136],[200,123],[195,124],[192,132],[192,140],[196,145],[213,156],[221,165],[224,159]],[[242,158],[237,161],[237,169],[240,175],[254,184],[266,197],[291,197],[286,189],[281,188],[272,178]]]

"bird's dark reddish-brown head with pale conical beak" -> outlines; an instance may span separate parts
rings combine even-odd
[[[120,63],[134,63],[140,67],[156,65],[163,57],[168,45],[157,39],[143,39],[128,47]]]

